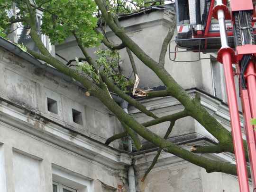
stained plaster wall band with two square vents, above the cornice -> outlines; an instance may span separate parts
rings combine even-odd
[[[122,128],[110,111],[85,90],[68,83],[44,69],[0,49],[0,93],[20,105],[61,125],[98,141],[105,140]],[[47,107],[47,98],[56,101],[56,113]],[[72,109],[81,112],[82,125],[73,121]],[[118,143],[115,143],[118,147]]]

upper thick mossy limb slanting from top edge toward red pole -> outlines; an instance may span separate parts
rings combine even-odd
[[[122,40],[122,42],[139,58],[147,67],[151,68],[155,74],[162,80],[167,87],[167,91],[171,96],[179,100],[191,117],[195,118],[207,131],[216,137],[219,142],[225,142],[229,145],[230,150],[233,148],[229,131],[226,130],[219,122],[201,106],[195,102],[191,96],[173,79],[173,77],[165,70],[164,67],[158,65],[150,58],[141,48],[133,42],[114,22],[110,13],[107,12],[101,0],[95,0],[101,10],[103,17],[112,29],[112,31]]]

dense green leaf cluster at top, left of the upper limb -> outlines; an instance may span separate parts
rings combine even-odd
[[[93,28],[97,26],[96,4],[93,0],[52,0],[44,6],[42,33],[50,37],[53,44],[64,42],[76,33],[85,47],[99,45],[102,35]]]

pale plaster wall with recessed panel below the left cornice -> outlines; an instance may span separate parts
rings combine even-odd
[[[0,177],[1,192],[51,192],[52,181],[63,182],[78,192],[105,192],[101,184],[113,189],[122,184],[124,192],[128,190],[125,167],[121,165],[116,168],[101,165],[96,156],[94,160],[87,159],[3,122],[0,132],[4,158],[0,170],[6,175]],[[86,187],[88,191],[83,190]]]

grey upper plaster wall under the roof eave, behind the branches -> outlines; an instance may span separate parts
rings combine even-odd
[[[158,62],[162,42],[168,33],[172,18],[173,13],[171,11],[158,10],[149,14],[143,14],[121,20],[120,24],[124,27],[127,35],[136,42],[142,50],[146,52],[146,54]],[[119,38],[115,36],[109,28],[107,28],[107,35],[111,42],[114,42],[115,44],[120,43]],[[174,39],[175,34],[172,40]],[[175,43],[172,43],[171,50],[174,50],[174,47]],[[104,46],[101,46],[101,48],[104,48]],[[64,44],[56,45],[55,51],[67,60],[75,57],[84,57],[73,37],[68,38]],[[202,88],[202,67],[203,70],[209,70],[209,67],[207,68],[205,65],[209,66],[210,63],[202,64],[201,61],[183,63],[173,62],[169,59],[168,51],[169,49],[165,56],[165,68],[174,77],[174,79],[185,89],[191,87]],[[94,50],[89,50],[89,52],[93,54]],[[133,78],[126,49],[119,50],[119,52],[121,55],[120,65],[124,69],[124,74],[127,77],[131,76],[131,78]],[[196,60],[198,59],[198,53],[186,52],[177,54],[177,60],[184,59]],[[138,71],[138,77],[140,79],[138,87],[152,88],[163,85],[155,73],[146,67],[135,55],[134,60]],[[205,90],[208,91],[208,89]]]

